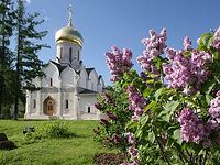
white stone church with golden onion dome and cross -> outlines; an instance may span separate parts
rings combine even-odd
[[[43,68],[44,77],[32,81],[40,88],[26,91],[25,119],[98,120],[97,94],[105,81],[95,68],[81,61],[82,36],[75,29],[69,9],[68,25],[56,32],[56,61]]]

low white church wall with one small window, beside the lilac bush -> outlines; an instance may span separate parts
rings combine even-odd
[[[100,112],[96,109],[96,95],[80,95],[78,119],[98,120]]]

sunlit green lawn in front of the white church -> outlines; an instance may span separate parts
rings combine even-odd
[[[77,134],[70,139],[43,139],[35,143],[26,143],[23,129],[25,127],[44,128],[51,121],[12,121],[0,120],[0,132],[4,132],[18,148],[0,150],[1,165],[91,165],[98,153],[116,152],[105,148],[94,141],[92,130],[97,121],[64,121]]]

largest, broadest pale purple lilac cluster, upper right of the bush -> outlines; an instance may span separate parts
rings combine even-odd
[[[165,80],[167,80],[169,88],[193,95],[210,74],[207,70],[207,64],[211,62],[211,55],[205,51],[191,50],[189,37],[184,40],[184,48],[183,51],[165,48],[170,63],[163,65],[163,72],[166,75]],[[191,51],[191,55],[186,56],[185,51]]]

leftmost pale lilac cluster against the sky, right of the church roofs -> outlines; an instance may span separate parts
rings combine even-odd
[[[111,52],[106,53],[106,63],[111,73],[111,81],[119,80],[119,77],[133,66],[132,52],[129,48],[120,51],[117,46],[112,46]]]

